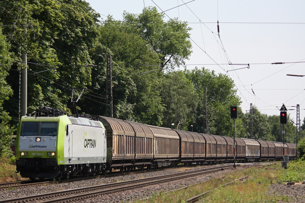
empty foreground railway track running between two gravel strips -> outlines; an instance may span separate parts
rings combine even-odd
[[[73,201],[88,197],[93,197],[100,194],[107,194],[107,193],[114,193],[118,191],[124,191],[132,188],[143,187],[146,185],[158,184],[173,180],[179,180],[187,177],[198,176],[205,173],[213,173],[219,170],[225,170],[232,168],[232,166],[216,166],[209,169],[200,169],[200,170],[192,170],[192,171],[185,171],[181,173],[174,173],[168,174],[163,176],[157,177],[149,177],[137,180],[129,180],[124,182],[118,183],[111,183],[111,184],[103,184],[103,185],[96,185],[90,187],[83,187],[83,188],[76,188],[71,190],[65,191],[57,191],[52,193],[45,193],[45,194],[38,194],[32,195],[27,197],[20,197],[20,198],[13,198],[13,199],[6,199],[0,200],[0,203],[9,203],[9,202],[44,202],[44,203],[51,203],[51,202],[66,202],[66,201]]]

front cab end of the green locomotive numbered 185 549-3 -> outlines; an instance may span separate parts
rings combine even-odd
[[[57,177],[56,140],[58,121],[23,117],[18,126],[16,169],[22,177]],[[53,167],[52,167],[53,166]]]

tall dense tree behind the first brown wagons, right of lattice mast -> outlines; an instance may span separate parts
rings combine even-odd
[[[159,97],[156,84],[163,78],[163,72],[155,71],[148,74],[149,66],[160,64],[157,54],[152,51],[147,41],[138,33],[134,33],[129,23],[113,22],[111,16],[99,29],[99,42],[111,50],[113,69],[113,108],[117,118],[139,121],[146,124],[161,125],[163,105]],[[94,58],[98,62],[98,58]],[[93,73],[92,82],[100,88],[99,92],[106,87],[106,65],[100,66],[97,74],[102,80],[95,80]],[[97,82],[97,83],[96,83]],[[104,96],[105,97],[105,96]],[[106,106],[105,106],[106,107]],[[105,112],[105,111],[104,111]],[[152,112],[156,112],[153,114]]]

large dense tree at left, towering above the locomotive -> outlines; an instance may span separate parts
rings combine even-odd
[[[71,87],[91,85],[90,50],[96,46],[99,15],[85,1],[1,1],[0,18],[5,24],[10,51],[20,58],[27,53],[28,112],[38,106],[52,106],[66,110],[70,104]],[[73,20],[71,20],[73,19]],[[38,65],[39,64],[39,65]],[[34,75],[47,70],[56,70]],[[24,67],[22,67],[24,68]],[[14,96],[5,109],[18,115],[19,65],[13,65],[7,82]],[[31,70],[30,70],[31,69]],[[14,116],[14,124],[18,117]]]

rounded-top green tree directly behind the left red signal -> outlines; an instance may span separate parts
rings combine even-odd
[[[233,121],[230,118],[230,106],[239,106],[241,101],[236,96],[233,81],[223,74],[216,74],[206,68],[195,68],[186,71],[186,77],[192,81],[195,92],[198,94],[198,106],[195,110],[196,124],[194,131],[206,132],[205,116],[205,87],[207,89],[207,120],[210,134],[233,136]],[[238,108],[238,119],[236,120],[236,135],[240,135],[243,129],[241,125],[242,111]]]

